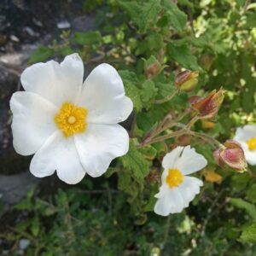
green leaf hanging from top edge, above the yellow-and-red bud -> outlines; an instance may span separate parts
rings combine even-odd
[[[187,23],[187,15],[177,8],[177,5],[170,0],[164,0],[163,6],[166,10],[166,15],[169,23],[173,28],[180,32]]]

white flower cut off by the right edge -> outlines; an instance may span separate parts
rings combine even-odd
[[[236,130],[234,140],[241,144],[247,163],[256,165],[256,125],[245,125]]]

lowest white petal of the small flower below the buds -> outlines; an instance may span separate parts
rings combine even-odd
[[[154,212],[161,216],[183,211],[183,197],[177,188],[168,189],[166,195],[154,205]]]

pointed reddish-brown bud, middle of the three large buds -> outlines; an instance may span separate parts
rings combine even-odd
[[[224,101],[224,90],[212,90],[206,97],[193,97],[189,100],[191,107],[201,114],[201,119],[212,119],[218,113]]]

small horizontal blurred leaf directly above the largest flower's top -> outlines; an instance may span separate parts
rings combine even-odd
[[[73,43],[83,45],[99,44],[102,42],[102,35],[98,31],[75,32],[72,41]]]

